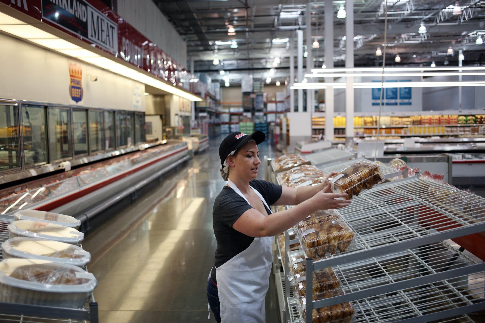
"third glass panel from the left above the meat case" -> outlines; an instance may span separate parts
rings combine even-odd
[[[72,158],[69,110],[49,108],[49,149],[52,161]]]

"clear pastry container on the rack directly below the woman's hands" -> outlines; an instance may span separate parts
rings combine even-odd
[[[335,219],[304,226],[298,234],[301,247],[309,258],[322,258],[355,249],[354,231]]]

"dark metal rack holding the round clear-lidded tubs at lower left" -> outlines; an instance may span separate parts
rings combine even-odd
[[[9,239],[7,226],[14,222],[10,215],[0,215],[0,244]],[[0,248],[0,256],[3,253]],[[84,308],[62,308],[0,302],[0,322],[98,322],[97,303],[93,293]]]

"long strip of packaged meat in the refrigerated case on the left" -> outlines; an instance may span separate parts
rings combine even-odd
[[[52,183],[40,187],[28,187],[21,193],[11,194],[0,199],[0,214],[11,214],[20,209],[34,209],[39,205],[48,203],[50,200],[72,194],[73,192],[84,189],[87,186],[95,185],[97,182],[115,178],[122,173],[143,167],[143,165],[161,159],[164,156],[182,151],[187,147],[186,143],[176,143],[151,148],[148,151],[140,151],[124,161],[110,164],[110,161],[102,162],[99,168],[91,169],[86,173],[65,178],[59,175],[62,180],[54,180]]]

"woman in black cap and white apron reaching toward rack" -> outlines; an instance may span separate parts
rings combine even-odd
[[[325,182],[291,188],[255,179],[265,135],[234,132],[219,146],[221,175],[227,180],[212,210],[217,240],[207,286],[217,322],[265,322],[264,300],[273,263],[273,236],[317,210],[339,209],[347,194],[331,194]],[[270,205],[295,205],[272,214]]]

